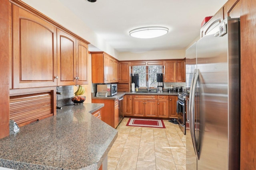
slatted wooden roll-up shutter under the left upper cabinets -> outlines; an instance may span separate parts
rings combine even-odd
[[[10,120],[19,127],[53,115],[52,93],[44,92],[10,97]]]

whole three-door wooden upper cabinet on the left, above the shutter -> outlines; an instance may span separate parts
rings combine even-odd
[[[88,43],[14,4],[10,15],[10,89],[88,84]]]

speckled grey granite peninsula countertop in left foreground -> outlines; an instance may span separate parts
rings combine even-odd
[[[0,167],[12,169],[98,170],[117,130],[92,115],[104,104],[63,106],[0,140]]]

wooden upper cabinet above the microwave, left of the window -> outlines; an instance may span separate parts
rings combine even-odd
[[[92,83],[118,82],[118,61],[103,51],[92,54]]]

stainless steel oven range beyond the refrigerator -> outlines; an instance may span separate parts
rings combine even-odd
[[[177,113],[178,113],[178,125],[180,129],[186,134],[186,96],[185,94],[178,94],[177,100]]]

